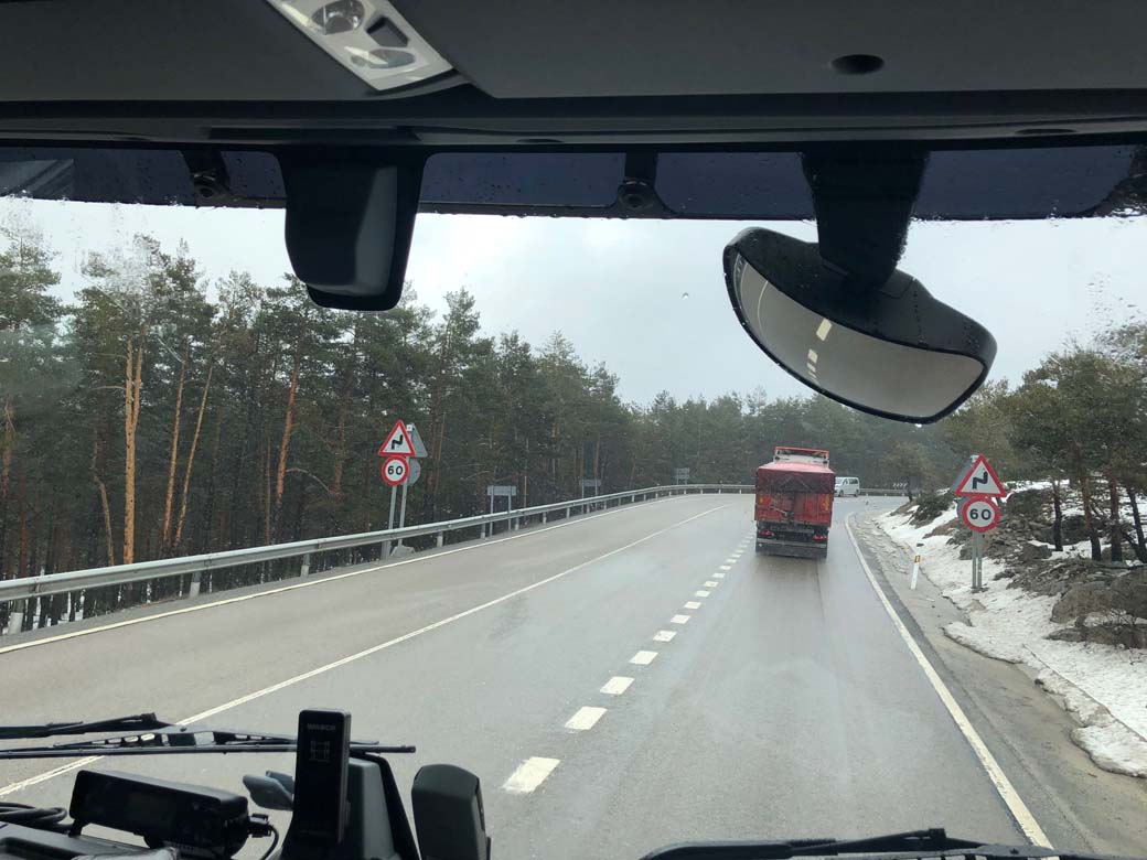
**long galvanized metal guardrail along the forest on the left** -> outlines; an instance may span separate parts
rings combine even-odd
[[[383,545],[384,557],[388,555],[387,546],[391,541],[401,541],[408,538],[419,538],[427,534],[437,535],[437,546],[443,546],[446,532],[460,529],[482,529],[483,534],[486,527],[496,523],[510,523],[510,527],[518,527],[523,521],[538,517],[545,523],[549,514],[564,511],[565,516],[572,516],[572,511],[580,508],[585,511],[590,508],[609,507],[610,503],[622,505],[625,501],[633,503],[641,499],[645,501],[650,497],[674,495],[696,493],[741,493],[752,492],[751,484],[681,484],[670,486],[655,486],[645,490],[630,490],[624,493],[610,493],[608,495],[587,497],[585,499],[571,499],[552,505],[538,505],[532,508],[520,510],[499,511],[497,514],[482,514],[462,519],[450,519],[440,523],[427,523],[426,525],[408,525],[403,529],[384,529],[382,531],[365,532],[360,534],[344,534],[336,538],[318,538],[315,540],[297,540],[292,544],[275,544],[267,547],[250,547],[248,549],[229,549],[223,553],[206,553],[204,555],[189,555],[182,558],[164,558],[151,562],[136,562],[134,564],[119,564],[109,568],[91,568],[88,570],[76,570],[64,573],[48,573],[42,577],[21,577],[18,579],[0,580],[0,603],[25,600],[28,597],[40,597],[53,594],[65,594],[84,588],[97,588],[109,585],[127,585],[130,583],[141,583],[169,577],[192,574],[192,586],[186,596],[198,594],[200,577],[208,571],[225,570],[242,564],[257,564],[259,562],[276,561],[279,558],[302,557],[299,576],[306,576],[311,569],[311,556],[315,553],[326,553],[337,549],[352,549],[361,546]]]

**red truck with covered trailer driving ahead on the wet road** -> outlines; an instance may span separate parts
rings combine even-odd
[[[826,557],[835,483],[827,451],[778,445],[757,469],[757,552]]]

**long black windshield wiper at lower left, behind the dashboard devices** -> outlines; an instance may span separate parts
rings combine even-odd
[[[25,758],[76,758],[77,756],[175,756],[206,752],[294,752],[292,735],[212,729],[159,722],[158,730],[91,741],[0,750],[0,760]],[[69,724],[64,724],[69,725]],[[62,733],[61,733],[62,734]],[[68,733],[72,734],[72,733]],[[77,733],[78,734],[78,733]],[[28,737],[29,735],[22,735]],[[34,735],[33,735],[34,736]],[[374,741],[351,741],[351,755],[364,752],[414,752],[414,746],[388,746]]]

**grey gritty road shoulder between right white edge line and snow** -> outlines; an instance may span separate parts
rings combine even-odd
[[[963,615],[921,577],[911,557],[873,523],[852,518],[858,546],[897,615],[952,690],[1056,846],[1133,854],[1147,844],[1147,783],[1097,767],[1071,741],[1075,721],[1031,674],[972,651],[943,628]]]

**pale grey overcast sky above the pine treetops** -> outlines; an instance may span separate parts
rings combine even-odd
[[[58,253],[63,291],[83,283],[88,250],[148,233],[187,242],[204,274],[289,271],[282,211],[0,201],[0,219],[32,222]],[[713,397],[763,386],[805,390],[742,334],[729,307],[721,249],[732,221],[618,221],[419,217],[407,276],[435,308],[467,287],[489,334],[516,329],[535,345],[561,330],[591,363],[621,377],[626,399]],[[811,224],[766,224],[804,240]],[[996,336],[992,377],[1017,380],[1070,337],[1086,341],[1147,305],[1147,219],[916,222],[900,268]]]

